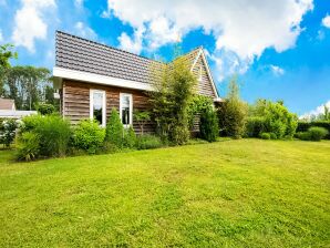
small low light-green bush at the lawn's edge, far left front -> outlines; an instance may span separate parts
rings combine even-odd
[[[24,132],[18,138],[17,158],[19,161],[33,161],[40,156],[40,137],[32,132]]]

